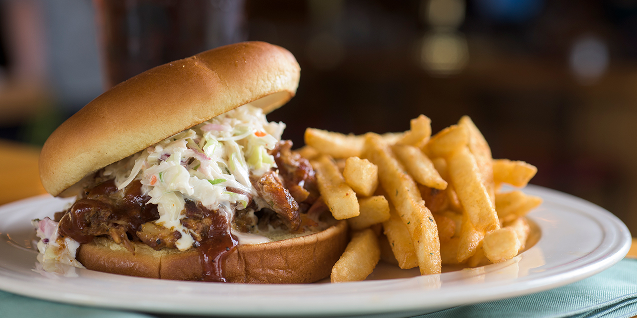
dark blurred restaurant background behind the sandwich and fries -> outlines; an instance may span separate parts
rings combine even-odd
[[[296,146],[306,127],[402,131],[422,113],[437,132],[468,114],[494,158],[637,233],[637,1],[3,0],[0,140],[41,146],[111,85],[245,40],[301,64],[269,115]]]

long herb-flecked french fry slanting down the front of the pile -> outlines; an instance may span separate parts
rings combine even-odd
[[[420,273],[440,273],[440,239],[431,211],[425,206],[415,181],[404,173],[380,135],[366,134],[364,157],[378,166],[378,179],[396,207],[412,238]]]

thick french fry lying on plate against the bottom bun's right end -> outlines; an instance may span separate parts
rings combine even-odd
[[[332,282],[364,280],[379,260],[380,245],[376,234],[371,229],[354,232],[345,252],[334,264],[330,279]]]

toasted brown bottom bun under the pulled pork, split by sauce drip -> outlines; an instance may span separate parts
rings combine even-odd
[[[347,246],[347,223],[339,221],[322,232],[276,242],[238,245],[225,259],[227,282],[300,284],[329,276]],[[96,237],[80,245],[76,258],[89,270],[175,280],[202,280],[196,249],[155,251],[134,242],[135,254],[113,240]]]

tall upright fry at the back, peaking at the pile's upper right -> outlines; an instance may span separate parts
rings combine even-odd
[[[458,125],[467,128],[469,132],[469,151],[471,151],[475,157],[482,184],[484,184],[487,193],[489,193],[491,202],[495,204],[496,184],[493,181],[493,158],[491,157],[489,144],[469,116],[462,116],[460,121],[458,121]]]

